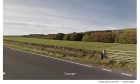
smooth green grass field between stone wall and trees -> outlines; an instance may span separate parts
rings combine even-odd
[[[28,42],[35,44],[64,46],[73,48],[82,48],[90,50],[123,50],[123,51],[136,51],[136,44],[120,44],[120,43],[102,43],[102,42],[83,42],[83,41],[61,41],[61,40],[48,40],[37,38],[25,38],[25,37],[4,37],[4,40],[12,40],[19,42]]]

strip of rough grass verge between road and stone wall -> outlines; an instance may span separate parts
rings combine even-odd
[[[136,74],[136,64],[125,63],[125,62],[116,63],[115,61],[110,60],[110,59],[98,59],[98,58],[94,58],[94,57],[91,58],[91,57],[87,57],[87,56],[85,56],[85,57],[73,56],[70,54],[66,54],[66,53],[62,53],[62,52],[58,52],[58,51],[51,51],[48,49],[41,50],[38,48],[33,48],[31,46],[22,45],[22,44],[19,44],[16,42],[9,43],[8,41],[4,41],[4,46],[8,46],[8,47],[16,48],[19,50],[36,53],[36,54],[52,56],[52,57],[56,57],[56,58],[60,58],[60,59],[68,60],[68,61],[78,62],[78,63],[82,63],[82,64],[88,64],[91,66],[109,68],[112,70],[125,71],[125,72],[131,73],[131,74]]]

